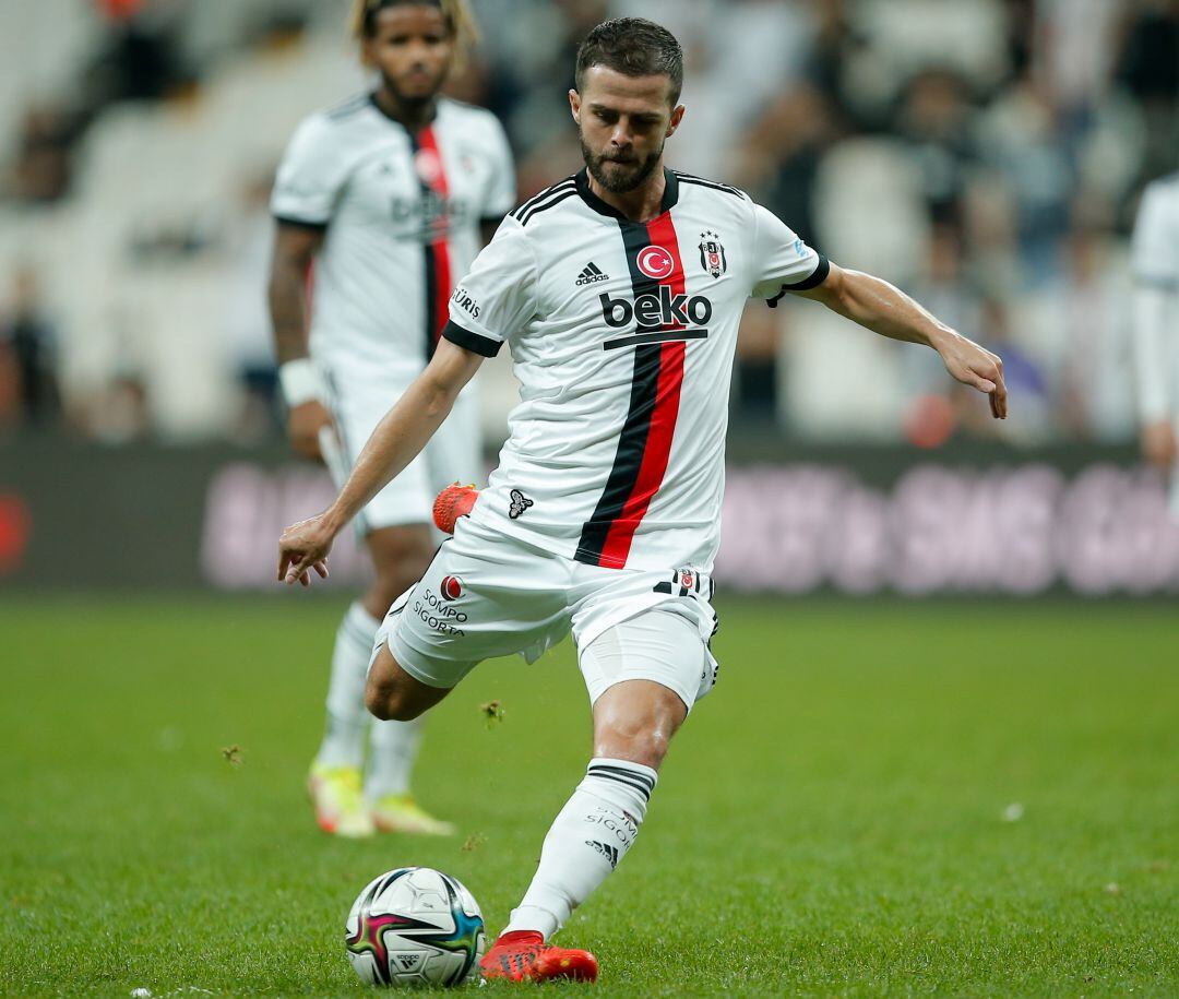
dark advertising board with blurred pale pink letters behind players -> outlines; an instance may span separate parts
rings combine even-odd
[[[1179,525],[1128,449],[733,447],[716,579],[738,592],[1179,591]],[[325,506],[278,448],[0,451],[0,586],[266,590],[283,526]],[[330,585],[368,573],[353,537]]]

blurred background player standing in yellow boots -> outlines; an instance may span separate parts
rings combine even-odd
[[[439,96],[474,37],[466,2],[357,0],[354,22],[380,83],[303,121],[271,202],[270,310],[289,434],[298,454],[327,460],[337,485],[389,400],[434,355],[453,281],[486,242],[480,224],[489,238],[515,203],[499,121]],[[362,789],[373,721],[364,679],[389,604],[429,564],[435,493],[480,478],[480,458],[477,400],[466,392],[423,453],[357,511],[375,580],[336,633],[327,730],[309,778],[330,833],[452,832],[409,794],[420,723],[373,725]]]

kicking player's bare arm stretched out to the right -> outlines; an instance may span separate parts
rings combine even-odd
[[[1003,362],[996,354],[950,329],[887,281],[835,264],[829,267],[822,284],[795,294],[822,302],[881,336],[933,347],[955,379],[990,397],[995,419],[1007,418]]]

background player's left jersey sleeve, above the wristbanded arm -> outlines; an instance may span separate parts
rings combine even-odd
[[[296,130],[275,178],[270,213],[279,222],[324,226],[344,186],[347,163],[330,124],[309,118]]]

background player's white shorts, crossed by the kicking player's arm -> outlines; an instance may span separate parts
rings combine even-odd
[[[324,366],[321,369],[329,386],[328,409],[340,441],[338,458],[328,459],[328,468],[338,488],[356,465],[376,425],[409,388],[409,382],[362,377],[338,368],[328,370]],[[475,386],[468,385],[422,453],[373,497],[356,518],[357,531],[363,535],[381,527],[432,524],[434,498],[440,489],[452,482],[480,484],[482,479],[479,396]]]

